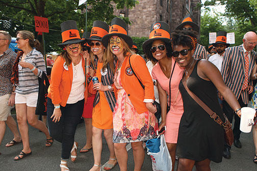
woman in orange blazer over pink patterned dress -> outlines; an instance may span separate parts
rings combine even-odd
[[[109,34],[102,38],[107,56],[116,55],[118,62],[114,77],[118,89],[113,112],[113,143],[120,170],[127,170],[126,143],[131,143],[135,162],[134,170],[141,170],[144,161],[144,140],[154,138],[158,122],[153,99],[153,82],[140,55],[132,54],[132,39],[127,36],[126,24],[115,17]],[[138,77],[138,78],[137,78]],[[139,83],[142,82],[143,87]]]

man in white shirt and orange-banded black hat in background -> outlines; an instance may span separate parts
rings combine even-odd
[[[226,43],[226,32],[220,31],[217,33],[216,42],[212,44],[216,50],[217,53],[210,56],[209,61],[213,63],[219,71],[221,71],[222,61],[223,61],[223,55],[225,52],[225,49],[229,47],[229,44]]]

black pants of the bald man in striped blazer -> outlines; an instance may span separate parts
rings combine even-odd
[[[241,107],[247,106],[247,104],[244,104],[241,96],[239,97],[238,102]],[[234,139],[239,139],[240,134],[241,134],[241,131],[239,129],[240,128],[240,118],[237,115],[237,113],[235,113],[235,111],[228,105],[228,103],[225,100],[223,100],[222,105],[223,105],[222,106],[223,112],[225,113],[225,115],[230,123],[232,123],[233,116],[235,116],[235,124],[234,124],[234,128],[233,128],[233,134],[234,134]]]

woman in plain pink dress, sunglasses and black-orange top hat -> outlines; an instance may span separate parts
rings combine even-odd
[[[175,60],[171,58],[172,48],[168,32],[169,25],[167,23],[163,21],[153,23],[149,39],[143,43],[143,50],[147,58],[158,61],[152,69],[152,78],[157,80],[162,108],[162,121],[159,130],[166,125],[167,128],[164,135],[172,165],[174,166],[178,127],[184,112],[182,96],[178,90],[178,84],[183,76],[184,69],[180,68],[179,65],[175,63]],[[170,97],[167,98],[167,94]],[[167,103],[170,106],[169,111],[167,111]],[[172,171],[173,170],[174,167],[172,168]]]

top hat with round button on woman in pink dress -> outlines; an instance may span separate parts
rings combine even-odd
[[[151,25],[149,39],[142,44],[143,51],[146,53],[150,50],[149,44],[155,40],[162,40],[166,44],[170,44],[169,25],[163,21],[156,21]]]

